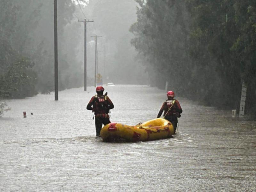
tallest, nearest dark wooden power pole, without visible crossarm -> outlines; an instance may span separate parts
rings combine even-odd
[[[59,100],[57,0],[54,0],[54,92],[55,101],[57,101]]]

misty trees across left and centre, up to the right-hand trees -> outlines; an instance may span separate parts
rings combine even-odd
[[[53,0],[0,0],[0,4],[0,99],[50,93],[54,90]],[[128,30],[136,21],[136,5],[133,0],[58,0],[59,90],[84,85],[84,25],[77,21],[85,19],[81,10],[94,20],[87,25],[88,86],[94,84],[91,36],[95,35],[102,36],[98,50],[104,83],[145,84],[147,77],[133,59],[136,51]]]

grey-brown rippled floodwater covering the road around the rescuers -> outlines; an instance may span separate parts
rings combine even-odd
[[[105,87],[110,120],[135,125],[157,116],[165,92]],[[104,143],[86,105],[94,88],[9,100],[0,118],[0,191],[256,191],[256,123],[177,97],[173,138]],[[27,118],[23,118],[23,111]],[[33,113],[31,115],[30,113]]]

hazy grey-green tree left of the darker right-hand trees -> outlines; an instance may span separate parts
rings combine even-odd
[[[182,92],[181,84],[185,76],[184,68],[188,63],[186,52],[188,38],[188,15],[180,1],[140,1],[137,9],[138,19],[130,31],[136,36],[132,39],[135,48],[145,55],[151,75],[155,73],[156,85],[164,88],[169,81],[172,87]],[[179,85],[179,86],[178,86]]]

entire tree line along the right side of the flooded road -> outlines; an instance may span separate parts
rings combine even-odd
[[[153,86],[207,106],[256,114],[255,0],[135,0],[130,31]]]

